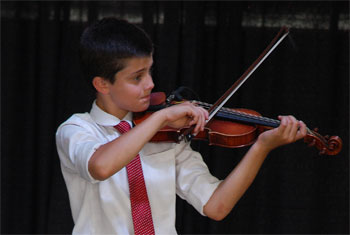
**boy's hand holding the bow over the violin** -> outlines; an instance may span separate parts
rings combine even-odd
[[[170,127],[182,128],[196,125],[193,130],[194,134],[204,130],[206,120],[209,117],[207,110],[188,101],[162,109],[160,112],[165,115],[165,125]]]

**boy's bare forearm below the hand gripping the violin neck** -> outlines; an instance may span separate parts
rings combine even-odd
[[[222,220],[242,197],[255,179],[268,150],[255,143],[235,169],[218,186],[204,206],[204,213],[214,219]]]

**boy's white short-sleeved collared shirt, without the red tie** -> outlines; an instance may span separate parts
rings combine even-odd
[[[124,120],[131,124],[132,113]],[[133,234],[126,168],[104,181],[92,178],[88,162],[101,145],[120,134],[120,120],[96,103],[57,130],[56,144],[72,210],[73,234]],[[117,154],[117,153],[116,153]],[[220,181],[186,143],[148,143],[140,158],[156,234],[176,234],[176,194],[203,214]]]

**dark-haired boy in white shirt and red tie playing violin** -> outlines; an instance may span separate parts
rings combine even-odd
[[[132,113],[149,106],[152,53],[148,36],[123,20],[102,19],[82,34],[81,60],[96,100],[90,113],[73,115],[56,133],[73,233],[176,234],[176,194],[202,215],[221,220],[267,154],[306,134],[304,123],[281,116],[281,125],[261,134],[227,178],[218,180],[187,143],[148,143],[165,125],[203,130],[206,110],[186,102],[157,111],[129,130]]]

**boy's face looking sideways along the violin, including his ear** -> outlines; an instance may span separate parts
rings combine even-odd
[[[109,84],[109,94],[120,118],[129,111],[140,112],[148,108],[154,87],[151,76],[152,56],[134,57],[126,60],[124,69],[115,75]]]

